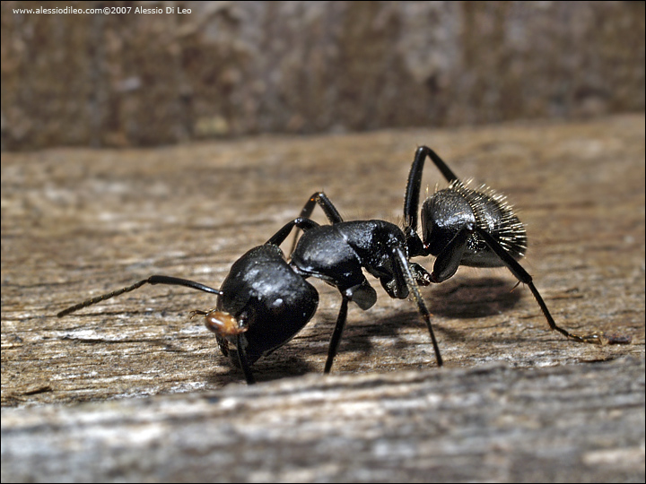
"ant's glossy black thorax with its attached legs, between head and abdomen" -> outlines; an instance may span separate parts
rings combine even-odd
[[[336,207],[323,192],[317,192],[301,211],[301,219],[309,217],[316,205],[323,209],[331,225],[306,229],[292,245],[292,267],[303,277],[316,277],[332,284],[341,293],[341,309],[336,318],[325,372],[334,362],[345,326],[350,301],[366,310],[377,301],[377,293],[363,275],[362,269],[380,280],[391,298],[415,300],[417,310],[429,330],[435,359],[442,365],[440,348],[432,330],[431,314],[417,288],[431,281],[426,270],[409,261],[406,235],[397,225],[385,220],[344,221]],[[297,243],[298,240],[298,243]]]

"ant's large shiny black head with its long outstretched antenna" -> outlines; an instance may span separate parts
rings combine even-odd
[[[193,311],[204,315],[205,325],[216,334],[225,356],[244,372],[249,384],[255,383],[250,365],[260,357],[283,346],[301,331],[319,306],[319,293],[287,264],[279,245],[292,227],[318,227],[312,220],[296,219],[279,230],[266,244],[242,255],[219,290],[196,281],[153,275],[126,288],[88,299],[57,314],[68,315],[83,307],[136,290],[144,284],[185,286],[217,295],[213,310]],[[230,351],[230,345],[233,350]]]

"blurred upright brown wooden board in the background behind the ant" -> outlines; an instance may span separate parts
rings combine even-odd
[[[2,2],[1,32],[3,151],[644,109],[643,2]]]

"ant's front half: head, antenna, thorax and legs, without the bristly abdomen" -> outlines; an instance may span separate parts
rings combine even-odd
[[[308,204],[313,206],[313,203],[323,207],[332,222],[330,225],[319,225],[306,217],[290,221],[264,245],[242,255],[231,266],[231,272],[219,290],[195,281],[153,275],[68,307],[57,316],[136,290],[144,284],[179,285],[216,294],[214,309],[193,311],[193,315],[205,316],[205,325],[216,334],[224,356],[229,356],[242,369],[247,383],[253,384],[255,378],[250,366],[290,341],[316,312],[319,293],[306,281],[314,277],[335,286],[342,296],[327,351],[324,371],[329,373],[341,341],[348,303],[354,301],[365,310],[377,300],[376,291],[362,272],[365,269],[380,279],[391,298],[403,299],[412,295],[431,335],[438,366],[441,366],[431,315],[417,289],[418,284],[429,283],[427,273],[419,265],[409,263],[404,232],[384,220],[344,221],[322,193],[310,198]],[[288,263],[279,246],[294,227],[304,233]]]

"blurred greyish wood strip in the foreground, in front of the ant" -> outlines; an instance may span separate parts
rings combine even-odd
[[[644,364],[494,365],[2,411],[2,480],[644,480]]]

